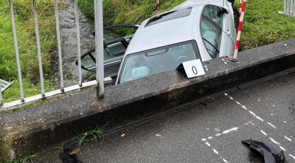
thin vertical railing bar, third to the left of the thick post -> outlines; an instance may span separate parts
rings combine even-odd
[[[41,48],[40,48],[40,39],[39,39],[39,25],[38,25],[38,17],[37,17],[37,9],[36,9],[36,0],[33,0],[33,12],[34,12],[36,44],[37,44],[37,52],[38,52],[38,63],[39,63],[41,93],[42,93],[42,96],[45,97],[44,82],[43,82],[43,69],[42,69],[42,57],[41,57]]]

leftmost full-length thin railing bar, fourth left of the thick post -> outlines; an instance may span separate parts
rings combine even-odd
[[[23,82],[22,82],[22,75],[20,72],[20,57],[18,55],[18,46],[17,46],[16,28],[15,28],[12,0],[9,0],[9,8],[10,8],[11,23],[12,23],[12,32],[13,32],[13,40],[14,40],[14,48],[15,48],[15,56],[16,56],[18,81],[20,83],[20,98],[21,98],[21,101],[24,102],[25,100],[23,97]]]

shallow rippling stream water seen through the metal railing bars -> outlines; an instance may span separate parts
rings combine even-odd
[[[63,60],[63,78],[64,87],[78,84],[78,66],[77,60],[77,35],[76,35],[76,20],[75,8],[73,0],[64,0],[69,4],[67,11],[59,11],[60,20],[60,39],[61,39],[61,55]],[[79,26],[80,26],[80,42],[81,55],[95,47],[95,38],[90,31],[94,30],[94,20],[84,15],[79,10]],[[54,62],[58,63],[58,54],[53,58]],[[60,86],[59,82],[59,68],[54,63],[52,77],[55,80],[55,85]],[[82,77],[85,79],[87,71],[82,69]]]

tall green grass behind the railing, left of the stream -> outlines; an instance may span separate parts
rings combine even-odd
[[[51,59],[57,49],[54,3],[52,0],[37,0],[36,4],[39,21],[44,86],[45,92],[49,92],[55,89],[50,81]],[[13,1],[13,8],[20,55],[20,67],[23,78],[23,91],[26,98],[41,94],[32,1]],[[7,0],[0,0],[0,10],[0,79],[6,81],[15,80],[15,83],[3,92],[4,103],[7,103],[20,99],[20,89],[17,76],[9,2]],[[34,105],[39,104],[41,103]],[[23,108],[18,108],[16,110],[20,109]]]

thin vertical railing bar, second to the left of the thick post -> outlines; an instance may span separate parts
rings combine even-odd
[[[56,38],[58,45],[58,64],[59,64],[59,75],[60,75],[60,90],[63,92],[63,60],[61,58],[61,45],[60,45],[60,30],[59,30],[59,19],[58,19],[58,4],[57,0],[54,0],[54,12],[55,12],[55,25],[56,25]]]

